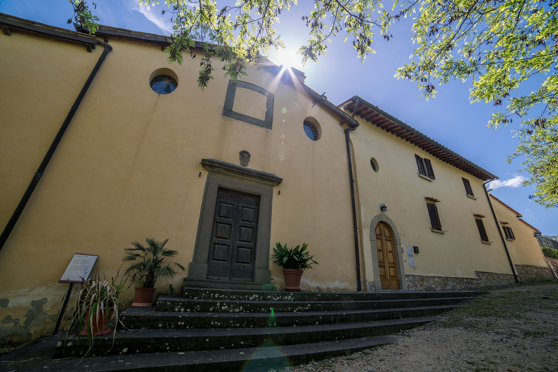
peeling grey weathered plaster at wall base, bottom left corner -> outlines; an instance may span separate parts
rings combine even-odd
[[[57,314],[48,315],[45,311],[46,297],[31,301],[31,307],[25,314],[23,323],[20,318],[13,319],[7,315],[0,321],[0,354],[41,336],[50,336]]]

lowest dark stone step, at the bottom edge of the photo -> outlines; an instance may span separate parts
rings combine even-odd
[[[89,372],[102,371],[267,371],[288,365],[309,363],[311,360],[345,355],[372,347],[391,344],[400,339],[395,336],[374,336],[363,339],[317,342],[314,344],[267,346],[253,349],[169,352],[84,357],[81,366]],[[56,371],[75,372],[76,360],[59,360]],[[45,366],[49,366],[47,363]]]

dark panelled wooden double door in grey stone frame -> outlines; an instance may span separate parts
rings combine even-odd
[[[253,281],[259,198],[219,187],[208,253],[208,279]]]

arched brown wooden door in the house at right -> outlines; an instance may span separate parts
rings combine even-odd
[[[393,237],[388,226],[383,222],[376,225],[376,249],[382,289],[400,289]]]

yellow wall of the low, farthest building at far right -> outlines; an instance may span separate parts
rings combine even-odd
[[[534,231],[529,226],[519,221],[516,214],[503,206],[499,201],[490,198],[494,213],[499,223],[507,222],[508,226],[512,229],[514,240],[506,239],[509,255],[511,255],[512,262],[516,265],[532,265],[539,267],[548,267],[545,255],[542,254],[540,245],[538,245],[537,238],[535,238]],[[506,203],[507,204],[507,203]],[[502,234],[504,231],[502,230]],[[504,234],[504,238],[506,235]]]

